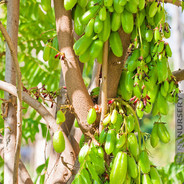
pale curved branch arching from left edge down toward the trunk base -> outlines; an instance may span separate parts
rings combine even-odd
[[[0,80],[0,89],[7,91],[8,93],[14,96],[17,96],[16,88],[12,84],[9,84],[7,82]],[[39,103],[37,100],[35,100],[34,98],[29,96],[29,94],[25,92],[22,92],[22,99],[32,108],[34,108],[43,117],[43,119],[46,121],[48,128],[50,129],[52,133],[58,130],[61,130],[63,132],[63,129],[58,124],[56,124],[56,120],[54,119],[54,117],[41,103]],[[72,165],[74,165],[75,154],[64,132],[63,132],[63,135],[65,138],[66,147],[65,147],[64,152],[62,153],[62,156],[67,158],[67,161],[70,163],[70,166],[72,168]],[[68,177],[70,177],[70,175],[72,174],[71,171],[66,167],[64,167],[63,169],[65,169],[65,174],[68,175]]]

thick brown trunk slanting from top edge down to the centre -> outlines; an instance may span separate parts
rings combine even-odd
[[[91,129],[86,123],[88,110],[93,106],[93,102],[87,92],[79,64],[73,51],[73,34],[71,11],[66,11],[64,1],[55,0],[56,30],[59,41],[60,52],[65,53],[66,59],[61,61],[64,81],[67,93],[82,131],[87,132]]]

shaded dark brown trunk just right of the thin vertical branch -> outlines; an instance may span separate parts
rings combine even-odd
[[[123,44],[123,56],[116,57],[112,52],[109,54],[108,63],[108,76],[107,76],[107,96],[108,98],[114,98],[117,94],[117,87],[123,65],[127,58],[127,50],[130,44],[130,34],[126,34],[122,29],[119,30],[121,41]]]

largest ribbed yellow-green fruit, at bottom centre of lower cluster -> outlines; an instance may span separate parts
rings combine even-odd
[[[127,153],[118,152],[110,172],[110,184],[122,184],[127,173]]]

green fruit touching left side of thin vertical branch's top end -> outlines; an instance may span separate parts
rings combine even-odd
[[[95,40],[90,47],[89,52],[90,58],[91,59],[97,58],[102,49],[103,49],[103,42],[101,40]]]

